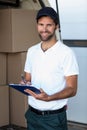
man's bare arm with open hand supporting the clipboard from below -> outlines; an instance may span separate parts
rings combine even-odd
[[[30,95],[35,97],[38,100],[43,100],[43,101],[53,101],[53,100],[59,100],[59,99],[65,99],[72,97],[76,94],[77,92],[77,75],[72,75],[72,76],[67,76],[65,77],[66,79],[66,87],[60,91],[57,92],[53,95],[48,95],[41,89],[41,94],[35,94],[31,90],[25,90],[28,92]]]

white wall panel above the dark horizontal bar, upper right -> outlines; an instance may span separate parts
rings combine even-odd
[[[58,7],[62,39],[87,40],[87,0],[58,0]]]

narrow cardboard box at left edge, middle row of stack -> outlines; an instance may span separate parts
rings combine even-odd
[[[6,54],[0,53],[0,85],[6,84]]]

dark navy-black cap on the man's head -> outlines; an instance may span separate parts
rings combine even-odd
[[[38,11],[36,19],[38,20],[39,18],[41,18],[43,16],[49,16],[54,20],[54,22],[56,24],[59,24],[58,14],[56,13],[56,11],[53,8],[51,8],[51,7],[43,7],[42,9],[40,9]]]

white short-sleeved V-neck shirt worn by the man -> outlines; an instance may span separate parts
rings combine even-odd
[[[48,95],[64,89],[64,76],[79,73],[73,51],[61,41],[45,52],[41,49],[41,43],[29,48],[24,71],[31,73],[32,85],[38,89],[42,88]],[[67,99],[46,102],[29,96],[28,103],[39,110],[55,110],[66,105]]]

